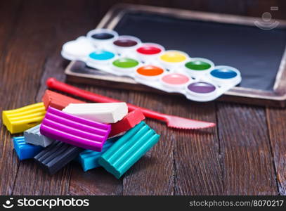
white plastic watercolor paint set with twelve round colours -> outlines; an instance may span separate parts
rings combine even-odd
[[[240,71],[193,58],[178,50],[143,43],[134,36],[119,36],[108,29],[91,30],[63,45],[61,54],[117,76],[127,76],[148,87],[179,93],[192,101],[212,101],[240,84]]]

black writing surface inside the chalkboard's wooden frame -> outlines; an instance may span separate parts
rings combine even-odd
[[[286,46],[286,30],[174,18],[162,14],[125,13],[119,34],[208,58],[242,73],[240,87],[271,91]]]

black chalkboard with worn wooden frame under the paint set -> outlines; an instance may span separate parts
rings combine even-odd
[[[280,24],[272,30],[256,27],[257,21],[263,25],[260,18],[122,4],[112,7],[98,28],[133,35],[167,50],[185,51],[190,57],[207,58],[215,65],[237,68],[242,82],[218,101],[285,107],[286,21],[274,20]],[[72,61],[65,74],[70,82],[158,92],[130,77],[89,68],[82,61]]]

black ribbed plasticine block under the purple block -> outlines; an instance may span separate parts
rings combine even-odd
[[[55,174],[82,151],[82,148],[55,140],[50,146],[35,155],[34,160],[50,174]]]

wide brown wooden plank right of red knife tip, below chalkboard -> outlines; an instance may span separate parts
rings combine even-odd
[[[264,108],[219,103],[217,109],[223,193],[277,194]]]

